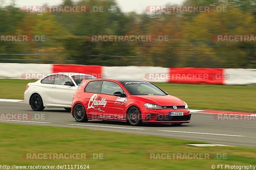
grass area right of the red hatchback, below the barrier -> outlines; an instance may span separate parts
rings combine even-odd
[[[187,102],[190,109],[256,112],[256,86],[156,83],[170,95]]]

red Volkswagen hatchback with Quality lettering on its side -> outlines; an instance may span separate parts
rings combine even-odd
[[[189,123],[191,113],[183,100],[145,80],[85,80],[74,94],[71,113],[77,122],[88,120],[143,123]]]

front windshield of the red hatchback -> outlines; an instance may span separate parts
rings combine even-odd
[[[149,82],[121,82],[131,95],[166,95]]]

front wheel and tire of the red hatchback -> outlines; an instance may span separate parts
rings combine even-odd
[[[140,109],[136,106],[132,106],[131,108],[129,108],[127,113],[127,119],[130,125],[140,126],[142,123]]]

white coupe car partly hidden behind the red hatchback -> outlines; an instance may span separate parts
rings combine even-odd
[[[96,77],[82,73],[53,73],[34,83],[28,83],[24,92],[25,103],[34,111],[44,107],[63,107],[71,111],[73,94],[83,79]]]

